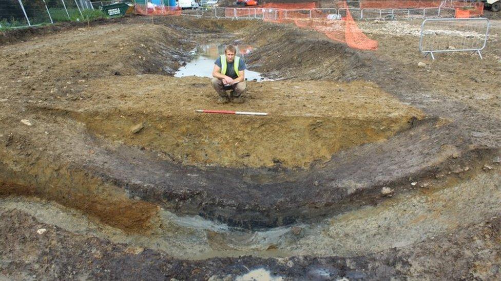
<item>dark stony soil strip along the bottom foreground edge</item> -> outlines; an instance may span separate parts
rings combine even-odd
[[[187,262],[162,252],[65,231],[18,210],[4,211],[0,276],[9,279],[234,279],[263,268],[287,279],[454,278],[499,276],[499,216],[408,248],[353,257],[211,258]],[[37,234],[37,229],[46,229]],[[24,237],[22,242],[18,237]],[[79,254],[75,254],[79,253]],[[57,257],[57,258],[54,258]]]

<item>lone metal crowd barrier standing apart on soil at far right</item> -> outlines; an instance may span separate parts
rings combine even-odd
[[[433,53],[467,51],[480,53],[486,47],[490,22],[487,18],[427,18],[421,24],[419,51]]]

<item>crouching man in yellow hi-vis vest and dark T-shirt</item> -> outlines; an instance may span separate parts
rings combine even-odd
[[[227,103],[232,100],[234,103],[242,103],[245,94],[245,62],[237,57],[235,46],[228,45],[224,49],[224,55],[214,62],[212,72],[212,85],[219,94],[217,103]],[[230,97],[226,91],[232,90]]]

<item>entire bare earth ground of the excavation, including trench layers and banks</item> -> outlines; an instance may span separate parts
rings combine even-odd
[[[0,276],[498,279],[499,21],[484,60],[422,58],[419,25],[361,23],[375,52],[182,17],[4,34]],[[171,76],[236,40],[283,80],[218,105]]]

